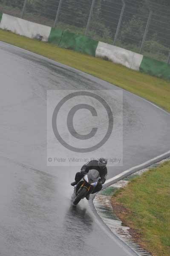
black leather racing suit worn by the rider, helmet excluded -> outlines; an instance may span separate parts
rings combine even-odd
[[[102,184],[105,183],[106,177],[107,177],[107,167],[102,168],[102,167],[98,166],[97,160],[92,160],[92,161],[84,164],[84,166],[81,167],[81,172],[76,173],[75,181],[78,183],[84,177],[84,175],[87,174],[89,172],[89,170],[92,170],[92,169],[97,170],[100,175],[98,184],[92,192],[92,194],[94,194],[102,189]]]

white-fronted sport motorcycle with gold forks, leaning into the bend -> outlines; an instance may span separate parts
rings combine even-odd
[[[98,184],[99,172],[97,170],[89,170],[89,172],[84,175],[84,177],[75,185],[74,190],[74,205],[77,205],[81,199],[85,198],[86,195],[89,195],[95,189],[95,186]]]

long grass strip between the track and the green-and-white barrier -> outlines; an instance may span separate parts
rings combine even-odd
[[[130,70],[112,62],[39,42],[0,29],[0,41],[59,61],[139,95],[170,111],[170,82]]]

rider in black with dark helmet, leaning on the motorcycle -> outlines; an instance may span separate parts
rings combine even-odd
[[[93,190],[92,194],[100,191],[102,189],[102,184],[105,183],[107,177],[107,159],[101,157],[99,160],[92,160],[84,166],[81,167],[81,172],[77,172],[75,175],[75,181],[71,183],[72,186],[75,186],[83,177],[86,175],[89,170],[95,169],[99,172],[100,179],[98,180],[98,184]],[[87,200],[89,200],[89,195],[86,196]]]

